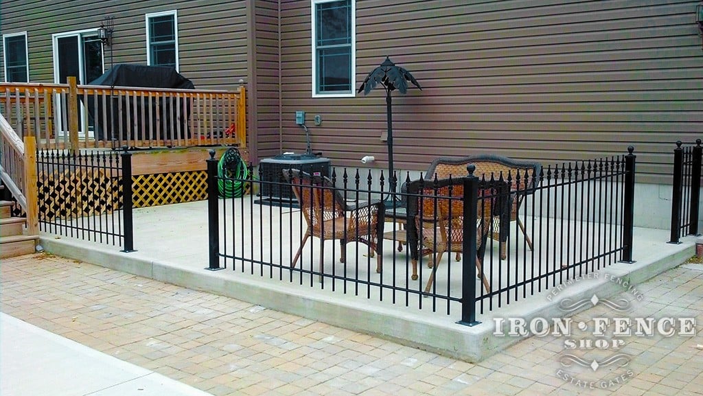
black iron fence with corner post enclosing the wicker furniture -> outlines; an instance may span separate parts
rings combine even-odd
[[[284,183],[218,176],[211,153],[209,269],[433,312],[460,309],[460,322],[473,324],[478,313],[632,261],[636,156],[628,151],[538,173],[408,174],[400,192],[370,171],[333,169],[326,178],[286,170],[295,200],[218,198],[219,182],[251,182],[269,195]]]

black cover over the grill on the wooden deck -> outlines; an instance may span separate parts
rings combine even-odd
[[[93,79],[89,82],[89,85],[102,85],[108,87],[143,87],[143,88],[174,88],[174,89],[195,89],[193,82],[180,75],[176,72],[175,68],[170,66],[146,66],[146,65],[129,65],[120,64],[115,65],[107,72],[103,73],[100,77]],[[122,101],[122,114],[120,114],[120,104],[118,100]],[[156,113],[156,101],[159,101],[160,106],[160,120],[161,127],[160,132],[157,133],[157,113]],[[108,120],[105,120],[105,124],[108,126],[107,131],[103,131],[103,103],[102,100],[98,99],[98,106],[96,108],[93,98],[86,98],[88,103],[88,112],[90,114],[91,122],[95,126],[96,136],[99,140],[116,140],[120,136],[120,125],[122,126],[122,134],[124,137],[129,137],[129,139],[148,139],[150,125],[153,132],[153,139],[174,139],[174,134],[177,132],[175,129],[176,122],[172,118],[176,117],[176,101],[171,98],[159,98],[159,99],[148,99],[145,98],[143,107],[146,108],[146,125],[144,128],[141,122],[141,108],[142,99],[141,97],[136,98],[136,108],[134,107],[134,101],[127,98],[117,98],[113,96],[108,98],[105,106],[107,106]],[[152,101],[153,113],[152,117],[149,118],[148,113],[148,101]],[[127,106],[129,106],[129,115],[131,115],[130,120],[127,120]],[[183,106],[183,103],[181,103]],[[172,108],[173,107],[173,108]],[[188,117],[191,113],[191,103],[186,103],[186,114],[183,115],[181,110],[181,133],[185,132],[185,136],[190,137],[190,132],[188,131]],[[134,130],[134,117],[137,120],[136,131]],[[128,126],[131,126],[131,134],[127,135]],[[146,129],[146,131],[142,131]],[[107,133],[105,133],[107,132]]]

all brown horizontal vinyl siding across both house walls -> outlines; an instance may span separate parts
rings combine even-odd
[[[422,84],[393,94],[399,169],[477,153],[550,165],[632,145],[637,181],[669,184],[674,142],[703,136],[697,4],[356,0],[355,88],[386,55]],[[245,80],[254,164],[305,150],[295,124],[304,110],[313,151],[335,166],[374,155],[385,167],[382,89],[311,97],[310,8],[310,0],[2,0],[0,32],[27,31],[30,81],[53,82],[51,34],[97,28],[110,15],[114,63],[146,63],[145,15],[177,10],[181,73],[199,88]]]

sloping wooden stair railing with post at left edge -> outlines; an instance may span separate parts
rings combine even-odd
[[[0,179],[27,215],[27,234],[37,235],[37,143],[34,136],[22,141],[1,114]]]

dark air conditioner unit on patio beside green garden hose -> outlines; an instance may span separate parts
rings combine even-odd
[[[281,154],[273,158],[264,158],[259,162],[259,180],[262,181],[259,190],[264,200],[295,200],[290,184],[283,177],[283,170],[298,169],[309,174],[330,176],[330,159],[313,154]]]

